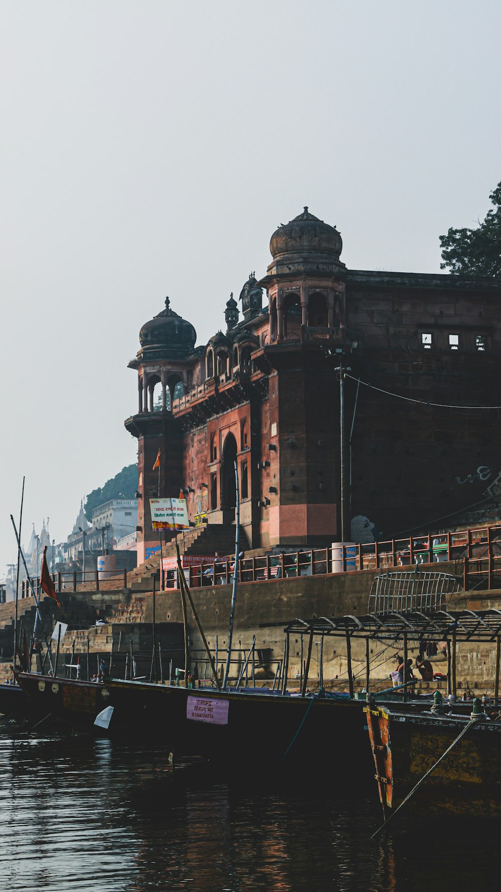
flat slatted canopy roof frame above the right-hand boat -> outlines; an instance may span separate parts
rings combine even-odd
[[[366,614],[363,616],[318,616],[289,623],[287,635],[329,635],[343,638],[407,640],[432,636],[457,641],[494,641],[501,635],[501,610],[432,610]]]

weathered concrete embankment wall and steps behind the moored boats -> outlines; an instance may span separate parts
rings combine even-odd
[[[454,573],[451,564],[441,564],[439,572]],[[329,574],[305,576],[296,579],[280,579],[270,582],[243,582],[238,586],[238,600],[235,614],[235,631],[233,648],[235,655],[248,651],[253,635],[256,648],[262,651],[268,665],[268,674],[274,671],[276,661],[283,654],[283,627],[296,618],[305,620],[316,616],[340,616],[346,614],[363,615],[367,612],[369,593],[375,573]],[[231,586],[194,588],[193,599],[201,624],[210,648],[215,648],[216,635],[218,648],[223,651],[228,641],[230,617]],[[66,610],[66,622],[70,619],[70,631],[64,641],[63,649],[71,649],[75,641],[77,653],[87,648],[87,632],[94,626],[96,619],[104,620],[106,626],[101,631],[89,633],[91,652],[104,653],[112,646],[116,652],[118,641],[121,648],[128,648],[132,640],[134,648],[151,648],[151,629],[153,622],[153,598],[151,592],[133,591],[85,591],[62,594],[63,608]],[[52,599],[44,598],[42,607],[46,619],[46,628],[52,629],[54,620],[62,616]],[[458,592],[449,601],[450,609],[487,609],[501,607],[501,591]],[[34,619],[32,599],[23,599],[20,603],[27,634],[30,634]],[[12,616],[13,605],[0,606],[0,639],[4,646],[4,658],[12,657]],[[182,608],[178,590],[163,591],[156,594],[155,620],[162,624],[163,633],[171,628],[180,638],[182,624]],[[174,625],[175,624],[175,625]],[[188,608],[188,625],[190,644],[194,662],[198,664],[198,673],[203,674],[205,655],[203,644],[196,631],[196,624]],[[159,630],[160,631],[160,630]],[[304,648],[305,649],[305,648]],[[314,685],[318,677],[318,643],[313,646],[311,678]],[[388,679],[394,668],[397,644],[378,641],[371,642],[371,672],[374,679]],[[9,653],[10,650],[10,653]],[[409,654],[415,657],[418,646],[410,646]],[[495,674],[495,644],[478,645],[458,643],[456,677],[459,686],[475,682],[479,687],[488,688],[493,685]],[[304,654],[305,656],[305,654]],[[301,641],[291,640],[289,656],[289,677],[294,681],[300,673]],[[338,682],[344,686],[347,678],[346,644],[341,638],[330,638],[323,646],[324,679]],[[365,645],[363,641],[353,642],[352,665],[355,673],[355,687],[361,688],[364,681]],[[447,671],[447,666],[436,668]]]

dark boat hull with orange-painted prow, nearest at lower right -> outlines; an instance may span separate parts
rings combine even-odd
[[[470,715],[366,706],[385,819],[466,729]],[[413,793],[407,813],[501,817],[501,722],[477,719]],[[404,810],[402,814],[405,814]]]

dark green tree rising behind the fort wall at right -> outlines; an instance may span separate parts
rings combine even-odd
[[[449,229],[440,235],[440,269],[456,276],[501,277],[501,183],[488,196],[496,208],[475,229]]]

